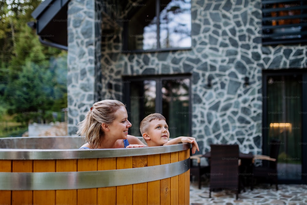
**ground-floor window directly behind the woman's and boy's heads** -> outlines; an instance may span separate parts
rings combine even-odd
[[[124,103],[132,127],[129,134],[141,136],[140,122],[151,113],[161,113],[169,125],[170,137],[191,136],[189,76],[125,78]]]

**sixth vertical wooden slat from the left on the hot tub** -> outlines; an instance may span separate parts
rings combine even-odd
[[[116,158],[99,158],[97,170],[115,170]],[[116,204],[116,187],[103,187],[97,189],[97,204]]]

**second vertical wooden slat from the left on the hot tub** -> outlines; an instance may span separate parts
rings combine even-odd
[[[33,160],[13,160],[13,172],[33,172]],[[12,191],[12,204],[33,204],[33,191]]]

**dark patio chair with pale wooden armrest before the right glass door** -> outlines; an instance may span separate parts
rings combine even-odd
[[[270,141],[270,156],[255,155],[255,160],[262,160],[268,163],[262,163],[262,166],[253,167],[251,189],[253,189],[255,178],[267,178],[271,180],[271,184],[276,184],[278,190],[278,174],[277,174],[277,161],[280,147],[280,140],[274,139]]]

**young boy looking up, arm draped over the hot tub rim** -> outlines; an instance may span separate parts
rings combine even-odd
[[[149,147],[188,142],[192,144],[193,154],[195,154],[196,149],[199,151],[194,137],[180,136],[169,140],[168,128],[165,117],[159,113],[148,115],[140,123],[141,134]]]

